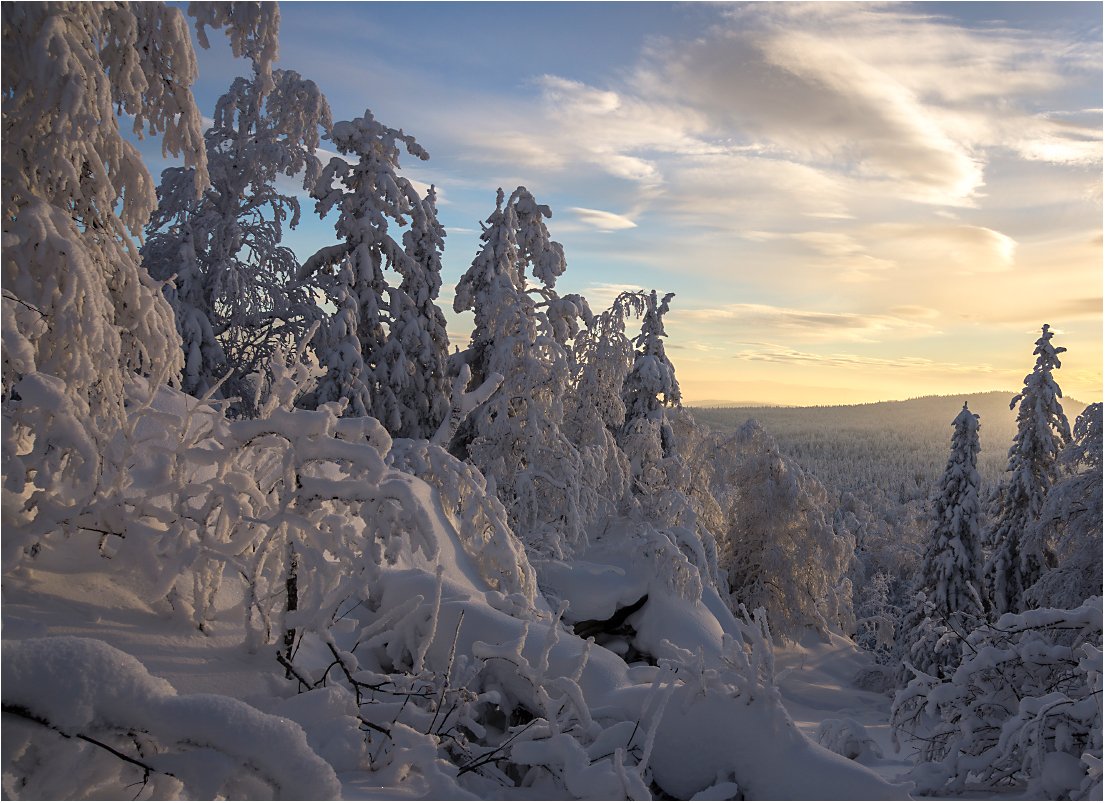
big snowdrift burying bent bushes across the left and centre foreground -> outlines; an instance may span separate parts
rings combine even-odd
[[[43,622],[3,646],[6,794],[904,796],[798,731],[762,616],[632,517],[535,567],[433,443],[325,406],[230,422],[164,388],[133,409],[119,492],[28,535],[6,579],[15,635]],[[92,541],[101,564],[74,560]],[[151,606],[119,620],[141,634],[65,635],[91,600],[51,614],[33,590],[105,568]],[[144,666],[157,644],[194,687],[232,643],[236,678],[208,694]]]

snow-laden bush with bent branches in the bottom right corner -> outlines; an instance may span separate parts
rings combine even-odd
[[[1102,794],[1102,598],[1007,613],[971,632],[962,663],[894,699],[926,794],[1097,800]]]

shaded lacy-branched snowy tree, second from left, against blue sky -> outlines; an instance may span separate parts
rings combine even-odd
[[[202,395],[229,372],[221,394],[251,398],[245,377],[275,349],[298,342],[318,316],[295,254],[281,244],[285,223],[299,222],[299,201],[276,181],[302,173],[304,188],[314,186],[319,128],[329,125],[313,81],[255,63],[253,77],[235,78],[215,105],[202,197],[191,190],[192,170],[162,173],[143,257],[155,278],[176,277],[166,293],[183,341],[187,392]]]

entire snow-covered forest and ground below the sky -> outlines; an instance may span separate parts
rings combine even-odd
[[[190,25],[250,75],[213,109]],[[893,437],[692,411],[674,294],[561,295],[517,187],[450,342],[429,155],[278,29],[3,4],[6,797],[1102,797],[1102,405],[1050,325]]]

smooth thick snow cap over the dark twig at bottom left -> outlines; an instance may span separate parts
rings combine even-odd
[[[141,758],[135,760],[175,776],[178,793],[241,796],[238,776],[252,770],[272,797],[340,795],[334,770],[308,747],[299,726],[230,697],[178,695],[137,658],[104,642],[74,636],[4,641],[2,665],[4,714],[88,743],[128,733],[133,743],[126,756],[135,752],[139,739],[131,731],[138,731],[141,741],[152,744],[139,747]],[[6,728],[6,741],[9,733]],[[22,735],[25,742],[38,736],[33,730]],[[33,752],[30,743],[4,747],[9,754]],[[113,752],[117,758],[125,751],[113,747]],[[99,761],[116,758],[107,749],[96,756]],[[125,758],[118,761],[126,763]],[[6,793],[10,774],[8,765]],[[83,791],[74,781],[69,795],[78,794]]]

